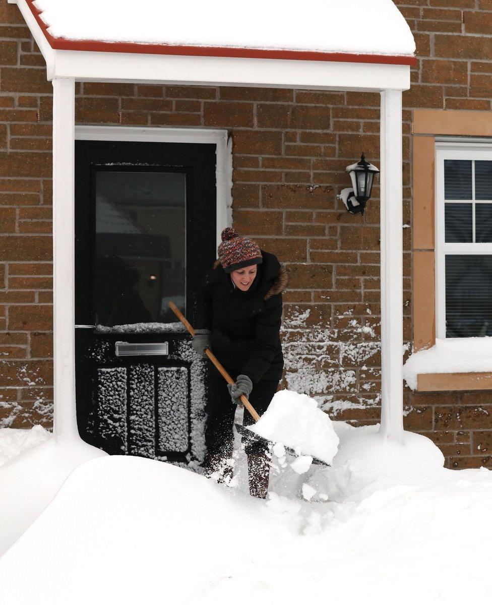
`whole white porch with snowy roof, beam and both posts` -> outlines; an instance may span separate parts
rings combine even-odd
[[[381,93],[381,436],[402,442],[402,124],[415,43],[392,0],[8,0],[53,82],[54,434],[78,439],[74,82]],[[136,131],[142,132],[142,128]]]

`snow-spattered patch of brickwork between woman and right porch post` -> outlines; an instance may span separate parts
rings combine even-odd
[[[347,327],[308,326],[309,315],[309,309],[294,308],[281,328],[287,388],[308,394],[335,416],[346,409],[378,405],[379,390],[372,398],[369,392],[375,391],[373,379],[379,378],[380,370],[366,366],[381,349],[372,325],[359,323],[349,312],[338,318],[346,317]]]

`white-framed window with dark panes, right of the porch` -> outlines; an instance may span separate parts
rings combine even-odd
[[[436,336],[492,336],[492,141],[436,143]]]

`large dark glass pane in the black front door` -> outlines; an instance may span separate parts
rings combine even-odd
[[[185,312],[185,174],[98,171],[94,321],[171,322]]]

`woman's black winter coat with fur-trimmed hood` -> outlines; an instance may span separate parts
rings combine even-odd
[[[253,384],[261,378],[280,381],[284,367],[280,323],[287,271],[274,254],[261,250],[261,257],[246,292],[234,287],[231,276],[215,261],[195,319],[197,329],[211,330],[212,352],[229,374],[233,378],[246,374]]]

